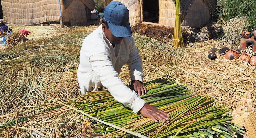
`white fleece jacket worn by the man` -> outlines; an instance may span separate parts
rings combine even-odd
[[[100,25],[83,40],[81,47],[77,78],[82,95],[103,85],[118,102],[137,113],[146,102],[118,77],[125,63],[128,64],[131,80],[142,82],[142,61],[134,37],[125,37],[121,44],[113,48]]]

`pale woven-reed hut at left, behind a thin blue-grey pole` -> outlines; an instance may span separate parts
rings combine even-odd
[[[64,22],[74,19],[84,23],[90,19],[94,9],[93,0],[61,0],[61,13]],[[58,0],[2,0],[4,21],[13,24],[40,24],[60,21]]]

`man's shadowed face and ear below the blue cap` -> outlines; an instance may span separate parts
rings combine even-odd
[[[110,28],[107,28],[104,23],[102,23],[102,31],[104,32],[106,38],[110,41],[112,44],[120,44],[123,40],[123,37],[115,37]]]

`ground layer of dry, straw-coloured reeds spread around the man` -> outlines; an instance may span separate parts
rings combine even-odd
[[[14,27],[15,25],[12,28]],[[24,27],[29,30],[30,26]],[[44,36],[44,31],[36,31],[38,36],[41,35],[41,37],[26,43],[28,45],[26,48],[38,47],[37,49],[13,58],[1,57],[1,60],[8,60],[8,62],[1,61],[0,77],[5,84],[1,85],[3,89],[0,92],[0,103],[2,105],[0,116],[13,112],[19,114],[21,110],[25,110],[27,115],[31,115],[32,113],[40,113],[37,107],[44,110],[59,105],[47,96],[63,102],[65,102],[65,98],[80,96],[76,72],[70,69],[78,67],[76,57],[79,56],[82,40],[96,28],[97,26],[71,29],[57,28],[60,31],[52,33],[51,36]],[[223,59],[223,57],[218,60],[207,58],[208,51],[212,47],[223,47],[219,41],[210,40],[193,43],[187,45],[186,49],[174,50],[169,45],[154,39],[141,37],[138,34],[134,34],[134,36],[136,46],[143,58],[145,82],[164,76],[171,77],[179,83],[191,84],[192,93],[209,91],[213,97],[221,102],[231,104],[232,109],[236,108],[236,104],[242,98],[247,85],[255,85],[255,67],[251,67],[248,63],[241,60],[229,61]],[[26,50],[25,46],[22,46]],[[20,51],[18,46],[8,49],[9,52],[15,52],[16,50]],[[22,54],[22,51],[18,54]],[[29,56],[31,56],[31,59],[28,58]],[[67,58],[70,56],[73,59]],[[58,58],[56,59],[56,57]],[[61,61],[61,59],[66,60],[66,62]],[[126,83],[130,81],[128,75],[129,70],[127,66],[124,66],[120,77]],[[252,98],[255,102],[254,92],[252,92]],[[83,100],[78,98],[77,101],[82,102]],[[22,116],[24,116],[24,113]],[[14,120],[16,117],[17,114],[1,117],[0,124]],[[16,126],[27,129],[9,128],[3,131],[4,135],[0,137],[7,135],[31,136],[33,132],[41,133],[44,128],[50,128],[44,130],[44,132],[47,131],[43,133],[45,136],[58,137],[62,135],[61,133],[65,133],[66,136],[76,136],[83,131],[81,127],[84,122],[86,122],[86,119],[81,115],[62,107],[54,110],[54,112],[40,113],[31,117],[28,121],[17,123]]]

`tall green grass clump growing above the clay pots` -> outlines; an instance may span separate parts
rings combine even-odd
[[[256,0],[218,0],[217,15],[223,38],[238,44],[243,30],[256,27]]]

